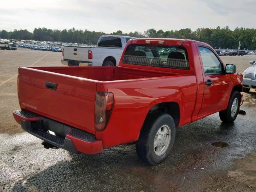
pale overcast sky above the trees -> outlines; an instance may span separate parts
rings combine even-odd
[[[256,0],[1,0],[0,30],[256,28]]]

